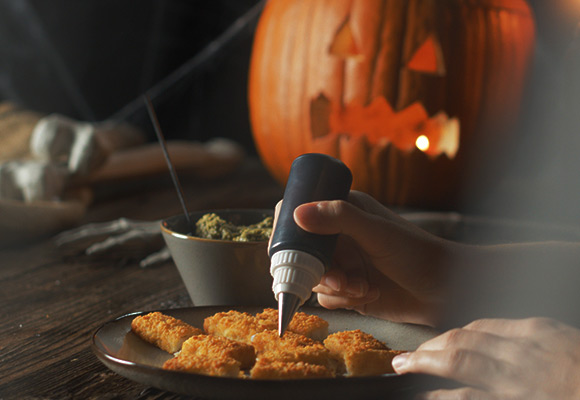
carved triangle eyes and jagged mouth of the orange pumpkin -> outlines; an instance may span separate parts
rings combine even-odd
[[[364,57],[347,18],[337,29],[329,53],[344,60],[357,62]],[[445,60],[440,43],[430,34],[408,58],[404,68],[432,77],[446,75]],[[459,148],[459,121],[449,118],[445,111],[429,116],[421,101],[394,110],[383,97],[375,97],[370,104],[331,104],[321,93],[311,104],[313,138],[325,135],[348,134],[364,136],[371,145],[392,143],[402,151],[419,149],[436,157],[441,154],[455,157]]]

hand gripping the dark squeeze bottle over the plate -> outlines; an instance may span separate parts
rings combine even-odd
[[[418,228],[372,197],[303,204],[296,223],[318,234],[341,234],[334,264],[314,291],[326,308],[434,325],[447,294],[454,243]]]

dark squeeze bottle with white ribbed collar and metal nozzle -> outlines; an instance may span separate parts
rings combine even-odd
[[[307,153],[292,163],[269,248],[280,336],[330,265],[337,239],[298,227],[294,209],[313,201],[346,200],[351,184],[348,167],[328,155]]]

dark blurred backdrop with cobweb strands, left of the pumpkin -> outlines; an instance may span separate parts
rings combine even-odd
[[[151,90],[168,137],[228,136],[252,149],[245,97],[256,4],[0,0],[0,99],[148,128],[141,95]]]

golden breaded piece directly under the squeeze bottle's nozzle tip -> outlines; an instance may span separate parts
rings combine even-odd
[[[294,332],[280,337],[278,331],[264,331],[252,338],[258,359],[271,361],[305,362],[333,368],[330,351],[321,342]]]

